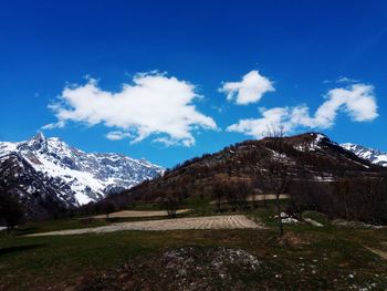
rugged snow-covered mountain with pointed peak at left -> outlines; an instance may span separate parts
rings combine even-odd
[[[43,134],[21,143],[0,142],[0,179],[27,200],[48,196],[63,207],[76,207],[163,173],[164,168],[144,159],[85,153]]]

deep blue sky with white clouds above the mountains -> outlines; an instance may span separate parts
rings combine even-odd
[[[386,52],[386,1],[1,1],[0,139],[169,167],[269,118],[387,150]]]

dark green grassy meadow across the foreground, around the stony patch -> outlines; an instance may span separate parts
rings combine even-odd
[[[194,210],[184,216],[213,215],[209,202],[199,198],[186,201]],[[195,247],[194,258],[201,258],[206,249],[226,247],[247,251],[259,261],[253,272],[230,267],[237,278],[229,281],[208,272],[203,279],[210,282],[208,290],[387,289],[387,229],[338,227],[321,214],[305,212],[324,227],[285,225],[285,236],[279,239],[273,205],[248,216],[266,229],[24,237],[111,222],[70,219],[28,224],[14,236],[0,235],[0,290],[119,290],[116,284],[123,281],[127,290],[177,290],[179,279],[161,276],[166,264],[160,258],[181,247]],[[184,280],[194,279],[186,274]],[[200,285],[194,284],[191,290],[200,290]]]

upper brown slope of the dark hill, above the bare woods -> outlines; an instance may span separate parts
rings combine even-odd
[[[167,170],[163,177],[126,191],[154,200],[167,194],[206,195],[213,185],[248,181],[257,191],[271,189],[269,166],[279,160],[293,180],[333,181],[341,177],[379,176],[385,169],[357,157],[318,133],[247,141],[197,157]]]

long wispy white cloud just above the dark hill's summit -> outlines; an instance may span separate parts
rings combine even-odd
[[[297,127],[328,128],[334,125],[339,112],[346,113],[355,122],[375,119],[378,114],[374,87],[366,84],[353,84],[345,89],[333,89],[326,94],[325,102],[317,108],[314,116],[311,116],[306,105],[260,108],[262,117],[241,119],[227,127],[227,131],[259,138],[268,133],[269,127],[273,126],[283,126],[287,133]]]

